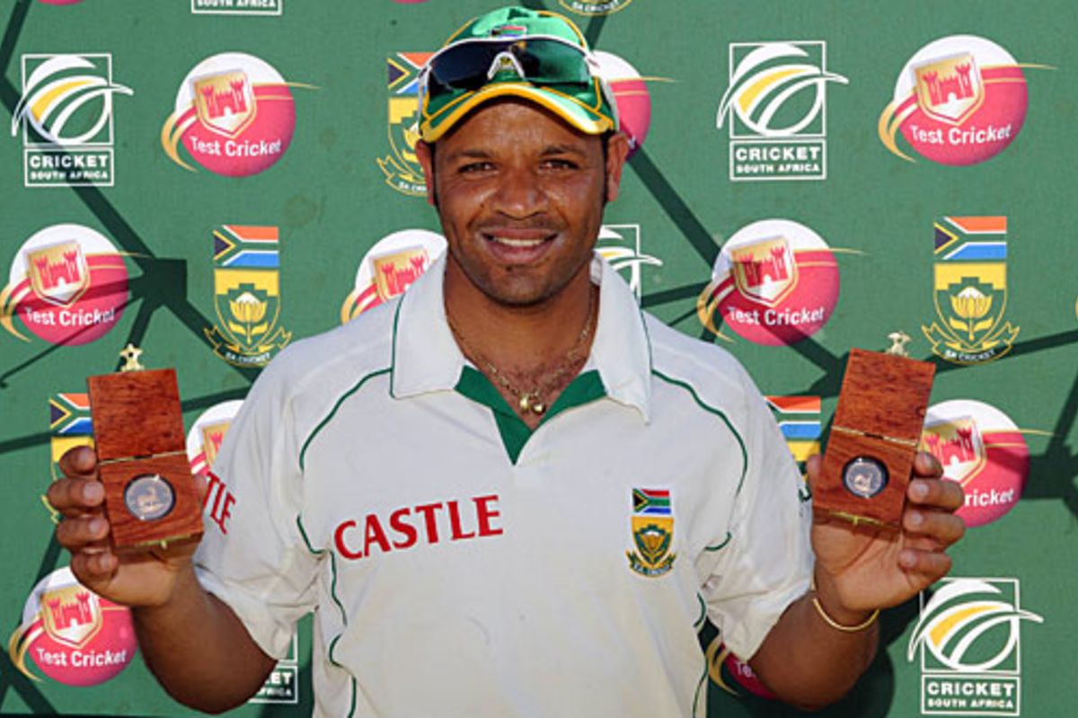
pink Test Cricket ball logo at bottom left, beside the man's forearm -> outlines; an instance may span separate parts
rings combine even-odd
[[[130,611],[91,592],[67,567],[33,586],[8,646],[24,675],[40,680],[26,664],[29,655],[53,680],[78,687],[114,678],[138,650]]]

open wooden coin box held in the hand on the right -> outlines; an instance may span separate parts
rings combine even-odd
[[[816,511],[900,528],[935,364],[852,349],[813,487]]]

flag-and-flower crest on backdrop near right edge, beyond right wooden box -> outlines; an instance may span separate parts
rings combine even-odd
[[[923,326],[932,353],[956,364],[1010,351],[1019,327],[1007,308],[1007,218],[943,217],[935,224],[932,300],[937,321]]]

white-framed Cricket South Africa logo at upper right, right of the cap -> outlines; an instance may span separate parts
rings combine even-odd
[[[730,179],[827,179],[827,43],[733,42],[716,126],[730,133]]]

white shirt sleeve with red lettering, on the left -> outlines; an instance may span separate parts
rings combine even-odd
[[[285,382],[273,369],[251,388],[213,464],[194,563],[202,585],[279,659],[296,621],[314,609],[320,561],[298,520],[303,484],[296,431]]]

